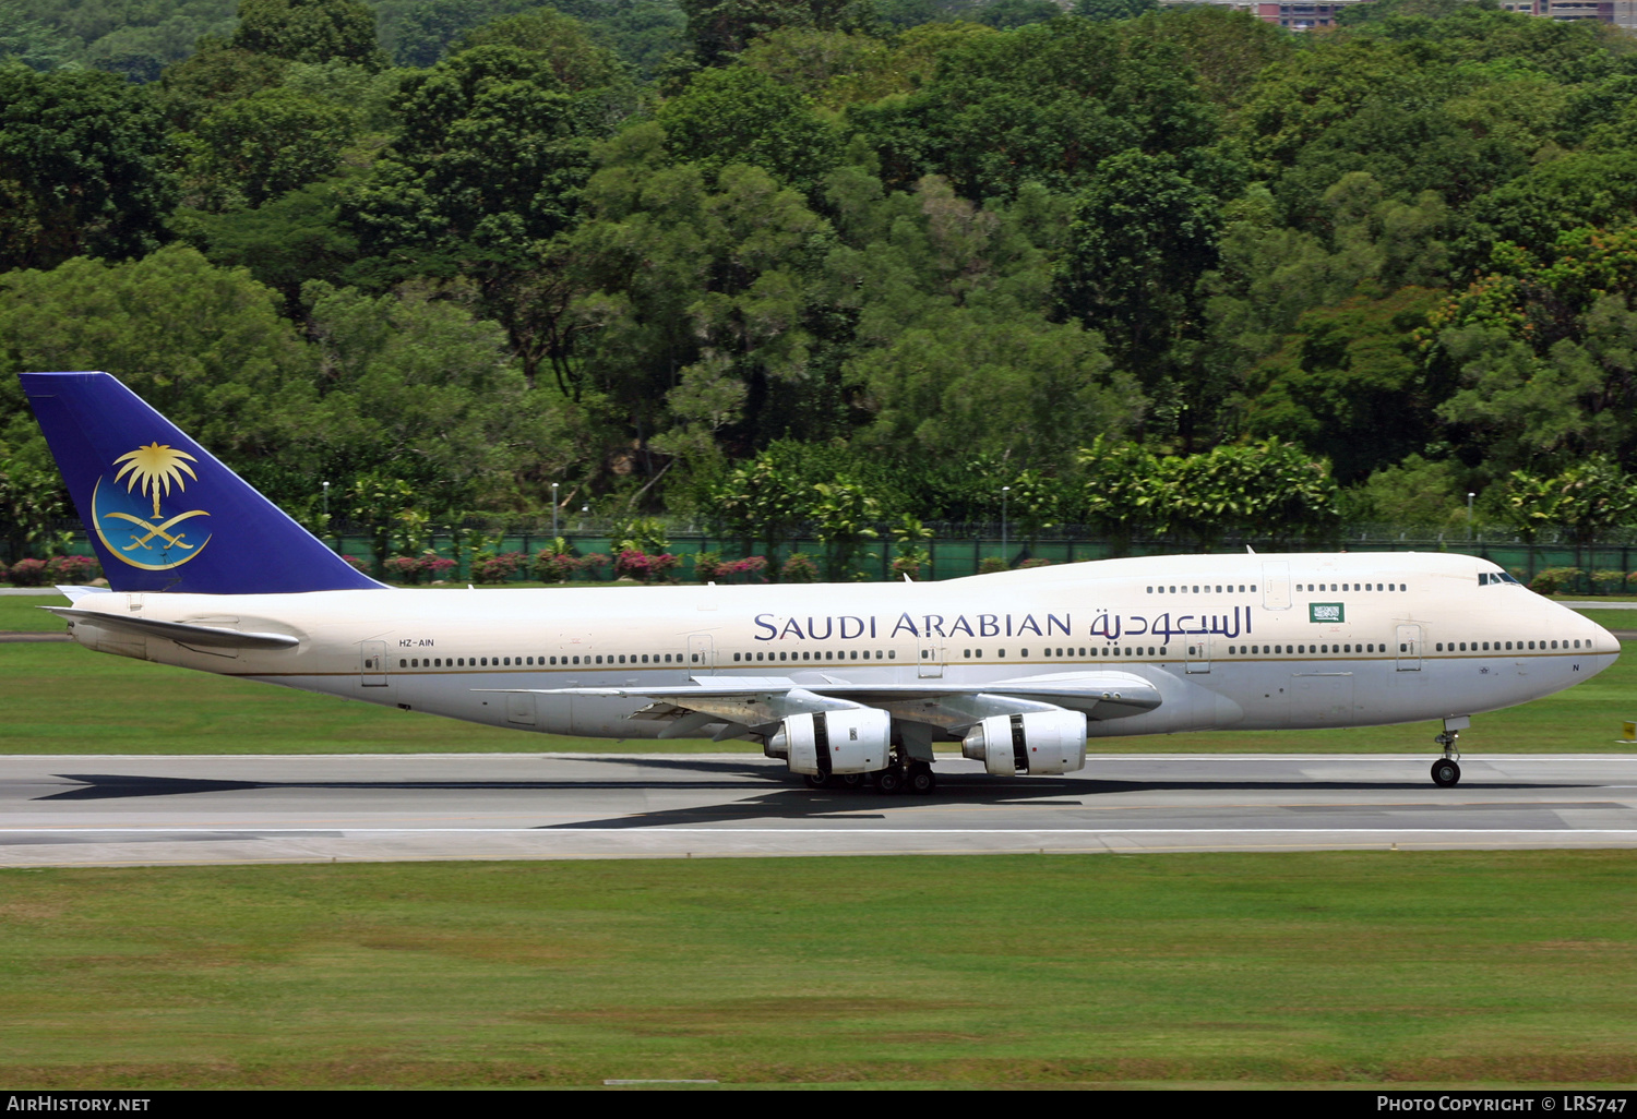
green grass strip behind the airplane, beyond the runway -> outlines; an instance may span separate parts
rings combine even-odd
[[[33,607],[59,599],[0,597],[0,630],[57,630]],[[20,605],[23,604],[23,605]],[[31,610],[31,612],[29,612]],[[1637,618],[1588,612],[1601,625]],[[1612,615],[1612,617],[1609,617]],[[34,622],[43,618],[44,622]],[[1637,645],[1614,667],[1567,692],[1480,715],[1460,746],[1485,753],[1619,753],[1637,718]],[[704,739],[563,738],[478,726],[327,695],[90,653],[69,643],[0,643],[0,754],[326,754],[746,751]],[[151,718],[164,712],[164,718]],[[1406,753],[1431,751],[1437,723],[1324,731],[1208,731],[1094,739],[1094,753]],[[953,744],[940,749],[954,751]]]

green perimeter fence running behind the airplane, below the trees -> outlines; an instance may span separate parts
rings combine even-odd
[[[614,538],[607,535],[565,533],[565,538],[578,555],[602,553],[612,560]],[[491,537],[491,550],[534,556],[534,553],[550,546],[552,540],[552,535],[543,532],[517,532],[503,537],[498,548],[493,546]],[[326,537],[326,543],[329,543],[337,553],[362,560],[367,566],[373,568],[375,555],[372,551],[370,535],[362,532],[331,535]],[[999,537],[989,535],[964,538],[941,537],[936,540],[920,542],[920,546],[925,548],[930,556],[928,563],[918,571],[920,579],[959,579],[972,576],[979,573],[984,560],[1002,560],[1008,566],[1017,568],[1030,560],[1059,564],[1080,563],[1087,560],[1108,560],[1115,556],[1177,553],[1224,555],[1241,553],[1246,546],[1251,546],[1259,553],[1290,550],[1288,545],[1275,545],[1269,540],[1224,540],[1210,548],[1198,548],[1167,540],[1138,540],[1126,543],[1090,538],[1002,542]],[[449,533],[432,533],[431,551],[435,551],[439,556],[447,560],[457,558]],[[470,545],[460,551],[458,566],[445,573],[442,579],[444,582],[467,582],[473,579],[471,551]],[[722,560],[728,561],[745,558],[746,555],[764,556],[768,560],[764,576],[766,579],[774,581],[778,577],[776,573],[779,564],[792,553],[812,556],[815,564],[823,569],[825,545],[814,538],[797,538],[782,543],[771,551],[766,548],[755,548],[746,553],[743,542],[737,537],[724,538],[706,533],[674,533],[671,537],[670,551],[681,561],[671,571],[671,576],[684,582],[694,579],[694,556],[706,551],[717,553]],[[1457,555],[1473,555],[1501,564],[1524,582],[1531,582],[1536,574],[1549,568],[1575,568],[1583,574],[1578,579],[1565,582],[1563,589],[1578,594],[1598,594],[1599,591],[1616,592],[1616,587],[1609,586],[1608,581],[1601,586],[1596,584],[1590,577],[1593,571],[1617,571],[1622,574],[1637,571],[1637,568],[1632,566],[1634,561],[1637,561],[1637,543],[1575,546],[1568,543],[1485,542],[1481,538],[1414,540],[1408,537],[1362,537],[1342,540],[1328,548],[1315,548],[1315,551],[1447,551]],[[83,535],[77,535],[74,538],[74,546],[69,555],[92,555]],[[853,576],[855,579],[897,579],[902,576],[892,571],[892,560],[895,555],[897,548],[891,542],[866,542],[855,553],[853,563],[848,564],[848,569],[856,573]],[[532,571],[532,564],[524,563],[509,581],[524,582],[534,579],[537,579],[537,576]],[[578,573],[571,581],[611,582],[614,581],[614,566],[609,563],[601,571]],[[1619,591],[1626,589],[1637,592],[1637,587],[1629,587],[1626,584],[1619,587]]]

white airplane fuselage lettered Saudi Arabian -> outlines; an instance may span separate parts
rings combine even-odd
[[[1087,671],[1162,702],[1092,736],[1367,726],[1511,707],[1585,681],[1619,643],[1473,556],[1152,556],[948,582],[92,594],[87,610],[300,638],[190,648],[80,618],[90,648],[452,718],[656,736],[645,700],[553,689],[692,677],[951,685]],[[709,731],[706,731],[709,733]],[[941,738],[958,738],[945,728]]]

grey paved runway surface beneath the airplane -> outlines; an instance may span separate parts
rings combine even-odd
[[[0,759],[0,865],[1637,846],[1637,754],[940,761],[930,797],[753,754]]]

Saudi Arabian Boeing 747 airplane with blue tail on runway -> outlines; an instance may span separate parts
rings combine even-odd
[[[393,589],[106,373],[25,373],[110,591],[100,653],[494,726],[745,738],[820,787],[931,792],[933,744],[994,775],[1087,738],[1442,720],[1614,663],[1608,630],[1460,555],[1102,560],[946,582]]]

